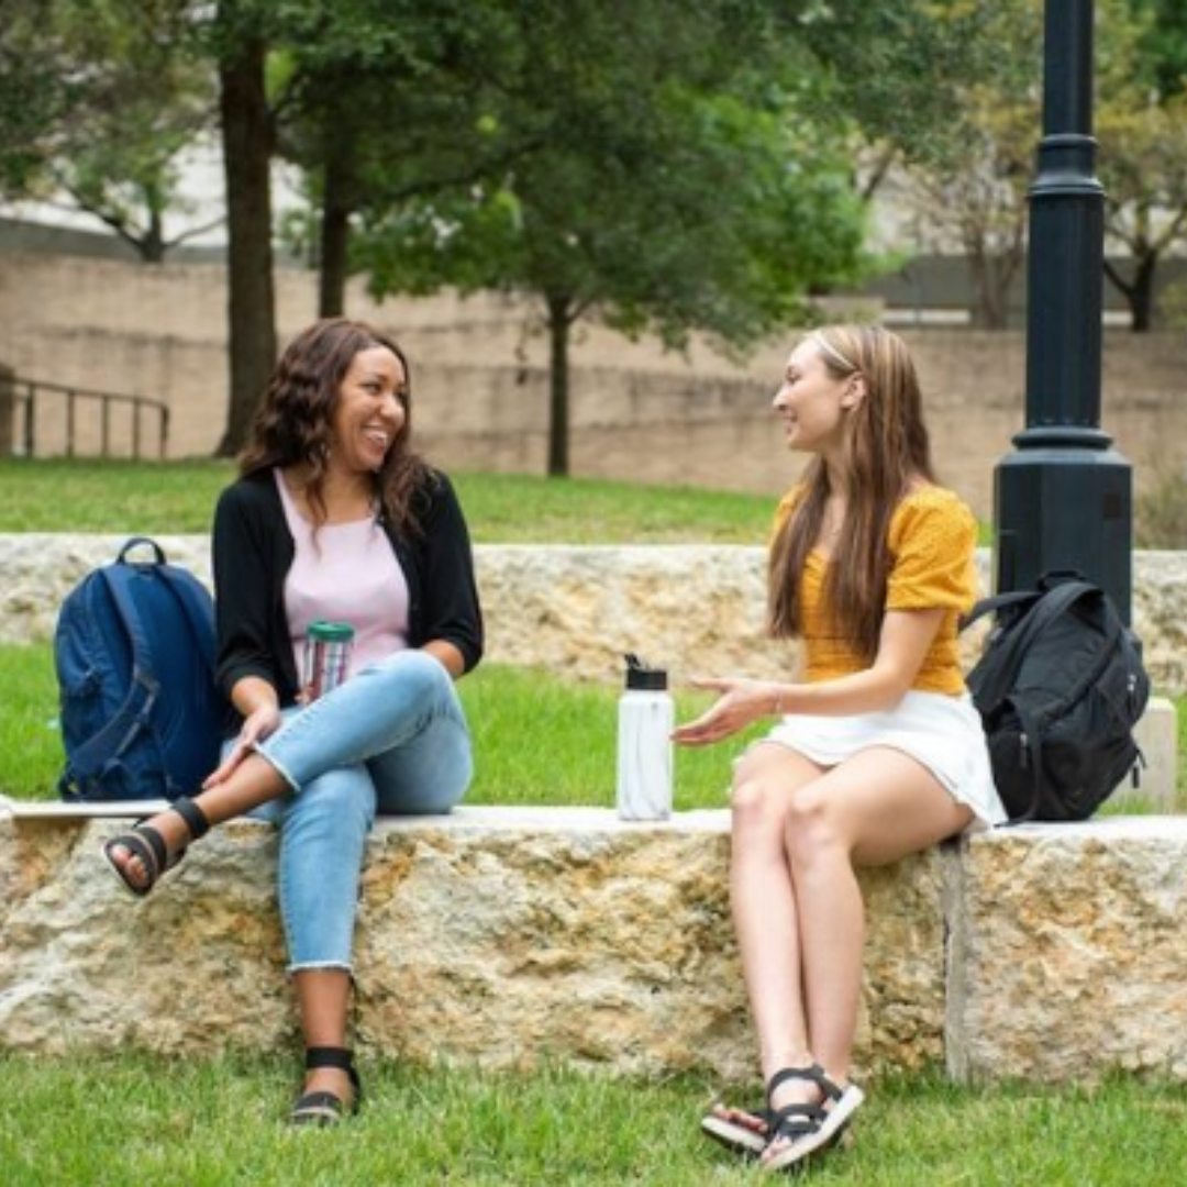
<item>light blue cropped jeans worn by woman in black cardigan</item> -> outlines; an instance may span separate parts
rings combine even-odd
[[[305,709],[258,748],[292,791],[252,815],[280,829],[288,970],[351,969],[367,833],[376,812],[449,812],[474,773],[453,681],[424,652],[399,652]]]

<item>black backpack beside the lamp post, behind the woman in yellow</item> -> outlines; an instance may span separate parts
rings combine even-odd
[[[1086,820],[1126,775],[1137,783],[1141,642],[1079,575],[985,598],[961,627],[986,614],[996,622],[967,684],[1002,802],[1011,820]]]

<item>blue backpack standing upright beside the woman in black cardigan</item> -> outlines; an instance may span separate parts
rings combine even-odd
[[[132,561],[145,545],[152,561]],[[62,603],[53,662],[68,801],[173,800],[218,764],[226,705],[214,680],[214,599],[134,537]]]

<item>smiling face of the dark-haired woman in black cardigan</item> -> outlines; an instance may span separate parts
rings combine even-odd
[[[368,347],[350,362],[331,415],[330,465],[374,474],[407,421],[404,364],[387,347]]]

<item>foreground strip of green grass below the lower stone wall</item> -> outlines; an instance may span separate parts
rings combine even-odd
[[[423,1071],[364,1061],[367,1104],[336,1131],[280,1122],[291,1059],[0,1056],[6,1187],[438,1187],[767,1182],[705,1141],[715,1085]],[[802,1180],[861,1187],[1178,1187],[1187,1091],[871,1086],[848,1148]],[[787,1181],[787,1180],[780,1180]]]

